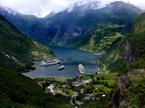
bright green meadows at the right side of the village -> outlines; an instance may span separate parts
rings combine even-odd
[[[84,88],[86,90],[91,88],[91,90],[95,90],[97,95],[102,95],[111,93],[115,90],[117,75],[117,73],[102,73],[92,76],[83,76],[80,79],[84,81],[92,79],[92,83],[90,83],[88,86],[84,85]]]

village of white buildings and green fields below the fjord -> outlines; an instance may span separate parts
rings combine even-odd
[[[96,73],[74,79],[37,78],[35,81],[46,93],[67,97],[73,106],[80,106],[91,100],[110,98],[117,76],[117,73]]]

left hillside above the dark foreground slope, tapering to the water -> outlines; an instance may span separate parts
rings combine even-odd
[[[0,26],[1,67],[20,70],[30,67],[32,60],[41,59],[43,54],[47,58],[53,57],[52,51],[28,39],[2,16]]]

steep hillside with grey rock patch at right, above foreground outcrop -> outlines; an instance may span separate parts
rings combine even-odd
[[[117,71],[129,71],[145,68],[145,14],[140,15],[129,35],[122,40],[122,44],[113,50],[113,57],[117,58],[112,62],[111,67]],[[109,56],[111,56],[110,53]],[[108,61],[112,58],[106,56]],[[115,57],[114,57],[115,58]],[[109,63],[109,62],[108,62]],[[118,65],[117,65],[118,64]]]

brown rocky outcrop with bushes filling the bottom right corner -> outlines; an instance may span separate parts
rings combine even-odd
[[[114,108],[143,108],[145,70],[135,69],[118,78],[118,89],[114,93]]]

